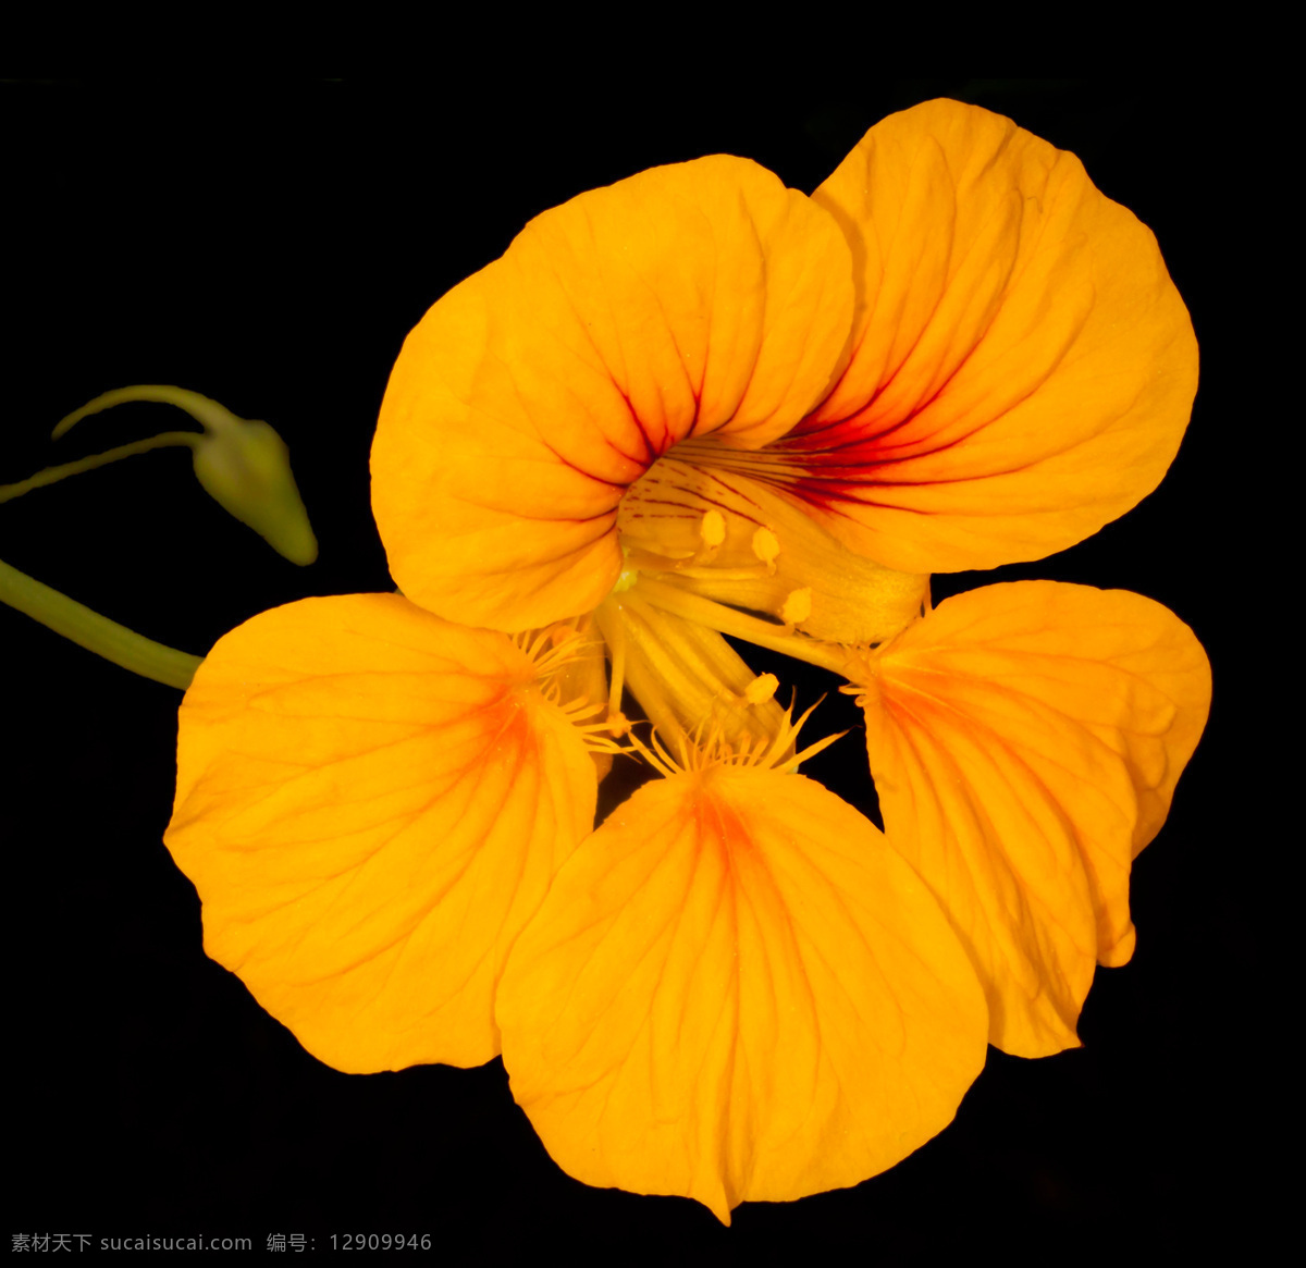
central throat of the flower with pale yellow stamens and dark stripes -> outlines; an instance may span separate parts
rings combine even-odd
[[[718,457],[768,461],[760,451],[679,445],[626,490],[616,517],[624,568],[593,614],[611,659],[610,734],[628,730],[628,688],[682,768],[697,760],[686,744],[756,756],[786,733],[776,676],[755,675],[724,636],[862,680],[868,649],[929,603],[926,576],[854,554],[803,503]],[[777,752],[791,756],[791,740]]]

